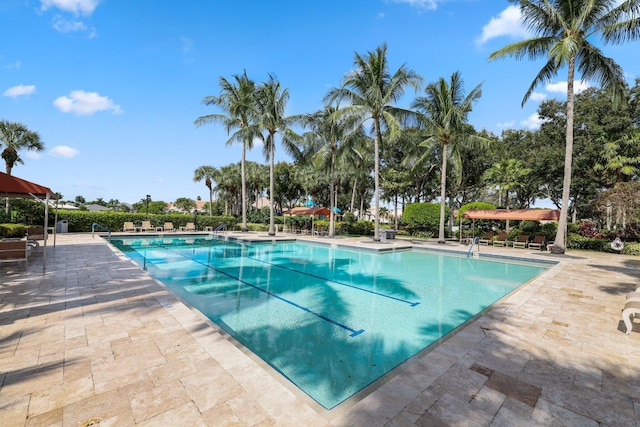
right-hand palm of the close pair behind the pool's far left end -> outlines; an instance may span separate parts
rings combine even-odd
[[[302,145],[302,137],[294,132],[291,127],[303,124],[304,116],[285,116],[289,90],[282,89],[280,82],[273,75],[269,80],[261,84],[256,91],[256,110],[258,114],[257,126],[267,132],[264,141],[263,153],[269,159],[269,236],[275,236],[275,199],[274,199],[274,157],[276,151],[275,137],[280,135],[280,140],[287,154],[294,158],[300,157],[299,147]]]

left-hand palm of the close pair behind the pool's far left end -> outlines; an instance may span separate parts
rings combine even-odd
[[[242,231],[247,231],[247,184],[245,163],[247,150],[253,148],[253,140],[256,137],[256,129],[252,126],[255,120],[254,96],[255,83],[247,77],[245,71],[241,75],[234,75],[235,82],[230,82],[224,77],[220,77],[220,95],[207,96],[203,99],[205,105],[214,105],[225,111],[227,114],[209,114],[198,117],[196,126],[207,123],[222,123],[231,137],[227,140],[227,145],[234,141],[242,144],[242,160],[240,161],[240,174],[242,175]]]

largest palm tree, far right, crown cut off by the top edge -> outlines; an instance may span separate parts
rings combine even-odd
[[[605,44],[619,44],[640,38],[640,2],[625,0],[520,0],[523,24],[535,34],[533,38],[512,43],[492,53],[490,60],[513,56],[516,59],[547,58],[524,95],[524,105],[534,89],[567,67],[567,129],[562,183],[562,206],[558,232],[551,252],[566,251],[565,233],[571,187],[573,157],[573,82],[577,70],[583,80],[594,79],[621,99],[625,81],[622,69],[589,40],[600,34]]]

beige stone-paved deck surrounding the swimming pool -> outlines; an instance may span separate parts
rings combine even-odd
[[[327,411],[101,238],[56,240],[0,264],[2,426],[640,426],[640,257],[482,246],[559,263]]]

